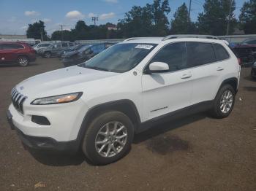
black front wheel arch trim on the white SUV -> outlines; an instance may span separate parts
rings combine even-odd
[[[108,111],[119,111],[126,114],[132,121],[136,132],[140,125],[140,115],[133,101],[129,99],[110,101],[104,104],[93,106],[91,109],[89,109],[88,112],[86,112],[85,117],[83,117],[83,122],[80,126],[80,130],[78,131],[77,141],[79,142],[79,144],[83,141],[83,136],[85,135],[90,122],[95,117],[99,116],[99,114]]]

